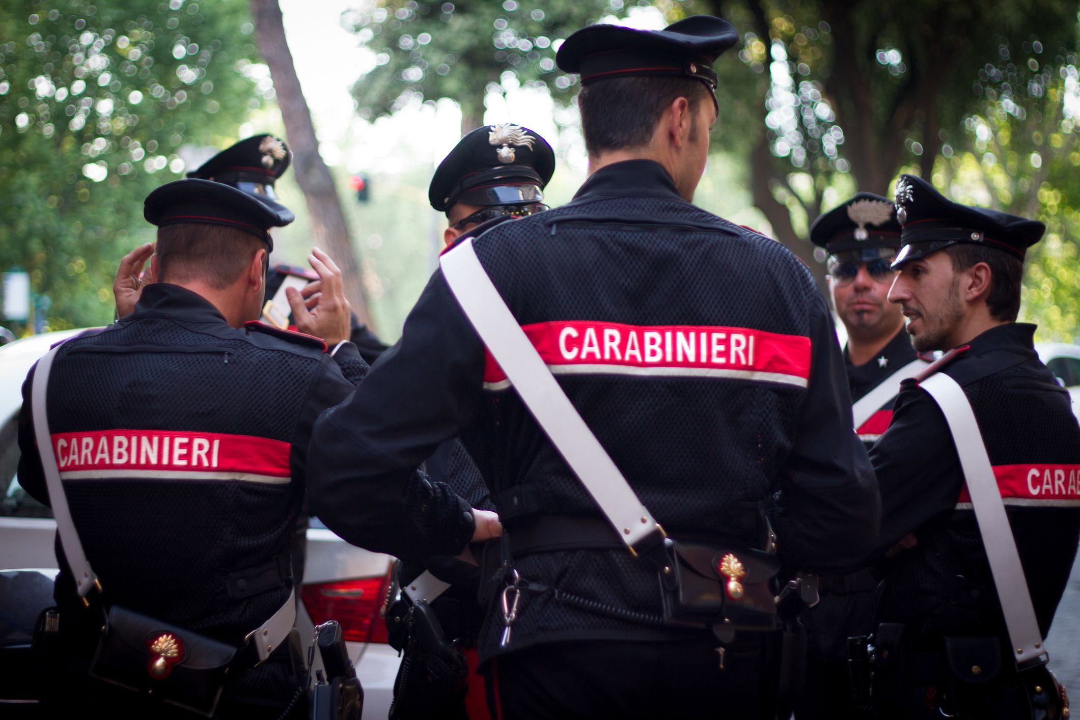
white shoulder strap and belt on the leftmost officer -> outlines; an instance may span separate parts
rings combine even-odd
[[[33,371],[33,385],[30,391],[30,403],[33,408],[33,434],[38,440],[38,454],[41,458],[41,470],[45,476],[45,486],[49,488],[49,500],[53,506],[53,516],[56,518],[56,530],[60,536],[60,547],[67,557],[68,568],[75,576],[76,588],[84,604],[90,604],[86,596],[92,589],[102,590],[102,583],[90,567],[86,560],[86,553],[82,548],[79,533],[76,531],[75,522],[71,521],[71,508],[68,506],[67,493],[64,492],[64,483],[60,480],[59,468],[56,465],[56,453],[53,450],[53,438],[49,432],[49,418],[46,416],[45,393],[49,389],[49,373],[53,369],[53,359],[59,345],[53,348],[38,361],[37,369]],[[270,619],[247,634],[244,638],[255,644],[255,650],[261,663],[274,648],[280,646],[288,637],[296,622],[296,589],[288,594],[285,604],[278,609]]]

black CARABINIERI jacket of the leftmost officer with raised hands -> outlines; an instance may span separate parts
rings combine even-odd
[[[230,327],[205,299],[165,283],[149,285],[132,314],[62,345],[49,427],[110,602],[238,646],[281,607],[287,580],[239,598],[227,579],[282,556],[287,570],[306,524],[312,425],[367,371],[353,344],[333,358],[325,348],[257,323]],[[18,479],[48,503],[32,378],[23,386]],[[57,543],[56,600],[75,619],[60,553]]]

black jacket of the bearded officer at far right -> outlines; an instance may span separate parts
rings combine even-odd
[[[1034,332],[1026,324],[986,330],[937,371],[971,400],[1045,637],[1080,536],[1080,427],[1068,393],[1036,355]],[[878,621],[908,623],[928,641],[1003,634],[956,446],[916,380],[903,383],[870,460],[881,485],[878,553],[908,532],[918,539],[888,566]]]

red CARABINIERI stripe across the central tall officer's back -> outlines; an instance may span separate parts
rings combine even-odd
[[[555,375],[702,377],[806,388],[810,338],[745,327],[552,321],[522,329]],[[490,353],[484,388],[510,386]]]

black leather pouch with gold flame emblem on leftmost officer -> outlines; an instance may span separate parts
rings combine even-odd
[[[238,652],[225,642],[112,606],[90,675],[210,717]]]

